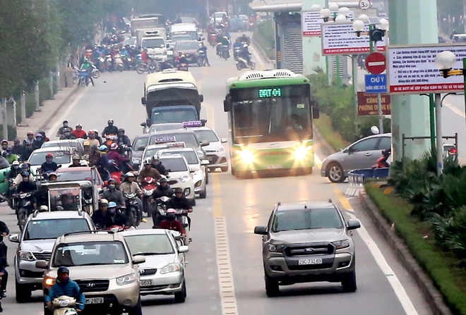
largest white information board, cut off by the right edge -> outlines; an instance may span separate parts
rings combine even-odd
[[[435,66],[435,57],[444,50],[456,55],[453,69],[462,69],[462,58],[466,58],[464,44],[389,46],[388,92],[391,94],[463,92],[465,85],[462,75],[443,78],[440,70]]]

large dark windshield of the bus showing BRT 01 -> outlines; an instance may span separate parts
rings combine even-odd
[[[309,85],[232,89],[233,142],[312,139]]]

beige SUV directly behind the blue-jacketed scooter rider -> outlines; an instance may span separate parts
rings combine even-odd
[[[145,257],[131,255],[123,235],[99,230],[61,235],[50,261],[36,261],[35,266],[44,269],[44,295],[58,268],[66,266],[85,295],[89,314],[142,315],[138,264],[144,262]]]

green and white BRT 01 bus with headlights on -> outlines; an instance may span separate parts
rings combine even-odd
[[[290,70],[248,71],[227,80],[224,110],[232,174],[296,170],[312,173],[312,120],[318,118],[309,79]]]

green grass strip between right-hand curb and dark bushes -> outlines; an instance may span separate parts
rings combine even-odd
[[[410,216],[412,205],[399,197],[384,194],[370,183],[364,185],[366,193],[387,218],[388,223],[395,223],[396,233],[405,240],[411,254],[419,266],[434,281],[446,303],[455,314],[466,315],[466,292],[460,288],[461,279],[465,279],[465,268],[452,266],[449,253],[442,252],[435,246],[434,240],[424,239],[425,223]],[[459,261],[458,261],[459,262]],[[462,284],[464,286],[464,283]]]

